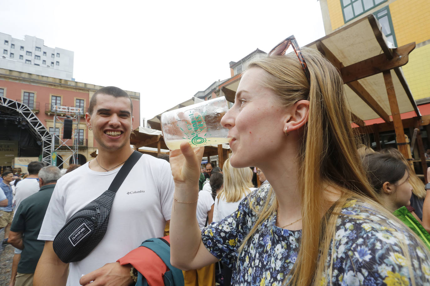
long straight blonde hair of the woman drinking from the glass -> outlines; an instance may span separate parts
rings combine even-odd
[[[301,51],[310,71],[310,84],[294,53],[286,56],[258,55],[246,66],[247,69],[258,67],[266,71],[259,83],[272,90],[284,107],[301,99],[310,101],[308,123],[304,127],[297,158],[303,223],[300,250],[290,271],[289,283],[292,285],[321,281],[327,270],[326,257],[335,235],[336,219],[349,199],[359,199],[370,205],[375,205],[373,201],[379,202],[359,160],[338,70],[318,51],[309,48]],[[337,202],[326,199],[327,186],[341,193]],[[240,252],[264,220],[276,211],[277,202],[273,194],[270,188],[266,202],[259,210],[250,202],[259,216],[241,244]],[[322,219],[331,206],[333,211]],[[388,211],[381,212],[393,217]]]

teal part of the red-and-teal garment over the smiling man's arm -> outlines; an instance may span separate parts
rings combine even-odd
[[[158,257],[166,264],[168,271],[164,273],[165,286],[184,286],[184,275],[178,268],[170,264],[170,244],[163,238],[150,238],[142,242],[140,246],[149,248],[154,251]],[[143,275],[138,272],[136,286],[148,286],[148,283]]]

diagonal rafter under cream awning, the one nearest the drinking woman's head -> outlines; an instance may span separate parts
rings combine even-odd
[[[329,60],[335,67],[341,70],[344,65],[338,60],[338,58],[324,45],[321,41],[316,42],[316,48],[323,54],[327,60]],[[347,83],[350,87],[376,114],[379,115],[385,122],[390,122],[390,116],[387,112],[379,105],[378,102],[370,95],[370,93],[358,82],[352,81]]]

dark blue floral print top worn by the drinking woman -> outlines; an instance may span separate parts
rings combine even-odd
[[[232,285],[283,285],[297,259],[301,231],[277,227],[276,213],[258,227],[238,257],[241,242],[257,220],[249,201],[262,208],[269,189],[270,184],[262,185],[240,202],[237,211],[202,230],[209,252],[233,269]],[[430,286],[430,253],[407,226],[356,201],[348,202],[341,213],[334,253],[331,246],[326,260],[330,265],[333,258],[332,268],[327,267],[331,273],[323,273],[318,284],[402,286],[415,281]],[[401,244],[408,253],[402,252]]]

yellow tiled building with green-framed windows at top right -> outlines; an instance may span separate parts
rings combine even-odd
[[[319,0],[326,34],[374,14],[387,40],[399,47],[410,42],[403,72],[417,103],[430,102],[430,0]]]

